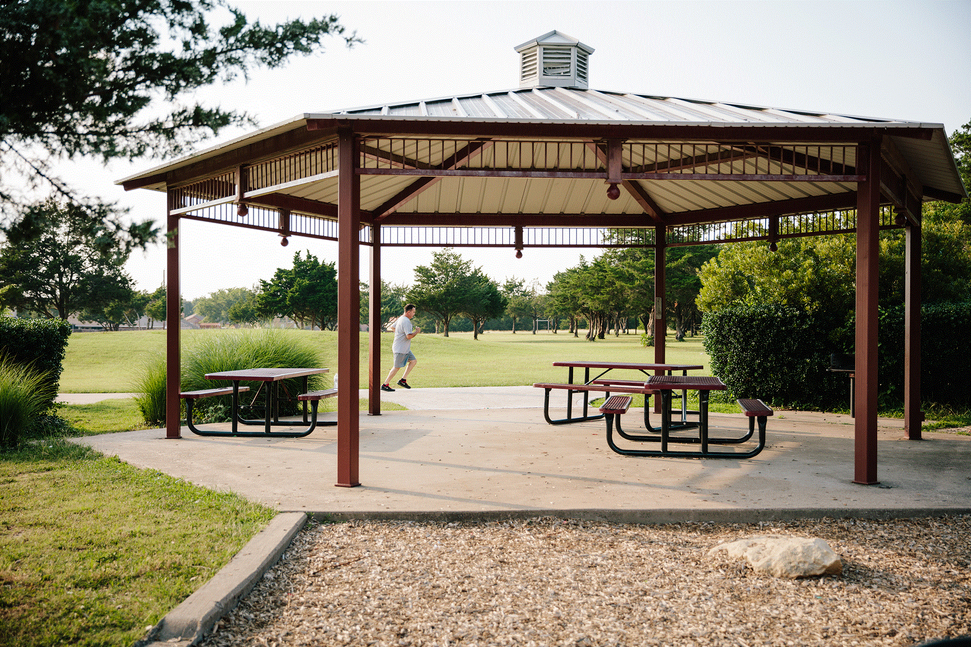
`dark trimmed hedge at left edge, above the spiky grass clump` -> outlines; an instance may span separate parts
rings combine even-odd
[[[71,324],[61,319],[0,317],[0,357],[45,376],[48,406],[57,396]]]

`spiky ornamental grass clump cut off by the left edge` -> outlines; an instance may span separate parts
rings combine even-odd
[[[48,410],[51,399],[47,375],[0,358],[0,447],[17,447]]]

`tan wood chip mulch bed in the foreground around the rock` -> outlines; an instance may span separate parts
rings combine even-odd
[[[821,537],[843,574],[707,555]],[[754,525],[311,524],[202,644],[913,645],[971,634],[971,516]]]

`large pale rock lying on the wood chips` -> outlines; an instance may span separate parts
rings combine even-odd
[[[749,537],[720,544],[708,551],[712,556],[720,553],[733,560],[744,558],[756,573],[774,577],[812,577],[843,572],[839,556],[819,537]]]

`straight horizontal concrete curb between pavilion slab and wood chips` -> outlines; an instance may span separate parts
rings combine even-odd
[[[586,508],[573,510],[480,510],[434,512],[315,512],[314,521],[346,522],[366,521],[414,521],[414,522],[495,522],[536,517],[580,519],[609,524],[684,524],[699,522],[710,524],[756,524],[769,521],[797,521],[801,519],[919,519],[945,515],[971,515],[971,508],[727,508],[717,510],[658,509],[618,510]]]

